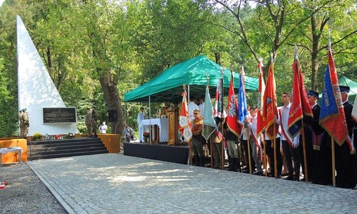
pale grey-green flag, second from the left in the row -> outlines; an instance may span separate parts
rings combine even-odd
[[[210,138],[210,135],[217,130],[217,125],[215,119],[213,118],[213,107],[210,100],[210,91],[208,90],[208,85],[206,86],[205,91],[205,110],[203,112],[203,129],[202,136],[205,137],[205,140]]]

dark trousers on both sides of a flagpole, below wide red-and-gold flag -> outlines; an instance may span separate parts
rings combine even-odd
[[[274,148],[273,142],[271,140],[266,140],[266,154],[269,158],[269,166],[271,168],[271,175],[275,174],[275,165],[274,165]],[[281,170],[283,169],[283,158],[281,157],[280,152],[280,137],[276,138],[276,165],[278,176],[281,176]]]

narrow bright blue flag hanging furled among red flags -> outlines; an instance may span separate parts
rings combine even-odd
[[[239,74],[239,89],[238,89],[238,123],[241,125],[241,130],[243,130],[244,120],[248,115],[248,110],[246,108],[246,96],[245,96],[245,86],[244,86],[244,68],[242,66],[241,73]]]

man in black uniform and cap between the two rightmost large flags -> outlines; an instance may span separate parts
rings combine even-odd
[[[331,173],[331,138],[319,125],[320,106],[317,104],[319,94],[316,91],[307,93],[313,118],[305,117],[305,142],[307,150],[307,169],[309,180],[314,184],[332,184]],[[300,147],[302,148],[302,147]],[[302,152],[301,152],[302,153]],[[305,165],[302,159],[302,173]]]

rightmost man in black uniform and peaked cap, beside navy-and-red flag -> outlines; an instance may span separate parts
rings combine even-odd
[[[355,121],[351,113],[353,106],[348,103],[348,86],[340,86],[341,99],[344,104],[344,113],[348,129],[347,140],[341,147],[336,146],[336,185],[341,188],[354,188],[356,186],[356,154],[353,147],[353,128]]]

